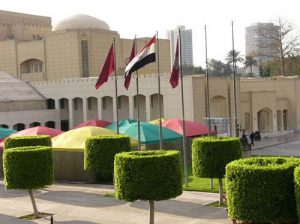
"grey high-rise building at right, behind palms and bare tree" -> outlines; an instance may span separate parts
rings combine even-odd
[[[277,56],[280,29],[273,23],[255,23],[246,27],[246,55],[253,56],[258,66]]]

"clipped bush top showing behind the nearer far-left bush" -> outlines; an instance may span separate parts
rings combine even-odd
[[[4,149],[37,145],[51,147],[50,137],[48,135],[16,136],[4,141]]]

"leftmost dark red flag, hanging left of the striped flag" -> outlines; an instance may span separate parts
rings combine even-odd
[[[110,47],[105,63],[102,67],[99,78],[96,82],[96,89],[100,88],[108,80],[108,76],[115,71],[115,53],[113,44]]]

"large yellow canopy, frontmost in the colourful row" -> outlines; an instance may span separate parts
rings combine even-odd
[[[97,135],[117,135],[117,133],[107,128],[94,126],[72,129],[52,138],[52,147],[54,150],[58,149],[58,151],[60,151],[59,149],[64,149],[64,151],[68,151],[68,149],[76,149],[70,151],[83,151],[86,139]],[[136,145],[137,143],[131,139],[131,144]]]

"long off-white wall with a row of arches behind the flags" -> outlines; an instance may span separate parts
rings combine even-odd
[[[97,78],[65,79],[60,81],[33,82],[32,85],[48,101],[62,121],[62,129],[69,129],[82,121],[102,119],[116,121],[116,97],[114,77],[99,90],[95,89]],[[140,119],[150,121],[159,117],[157,75],[141,75],[139,78]],[[129,90],[123,87],[124,77],[118,77],[119,120],[137,118],[136,82],[132,78]],[[149,85],[150,84],[150,85]],[[186,118],[194,120],[192,79],[185,79]],[[169,77],[161,77],[162,116],[181,117],[180,88],[172,89]],[[68,128],[64,127],[68,122]]]

